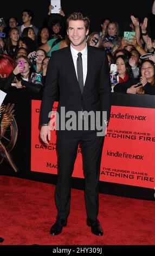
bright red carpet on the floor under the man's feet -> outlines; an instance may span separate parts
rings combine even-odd
[[[1,245],[154,245],[154,202],[100,194],[104,236],[98,237],[86,225],[83,191],[74,189],[68,225],[51,236],[54,190],[54,185],[0,176]]]

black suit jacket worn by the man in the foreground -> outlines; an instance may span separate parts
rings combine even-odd
[[[107,55],[104,50],[88,46],[87,77],[81,93],[74,68],[70,47],[52,52],[48,63],[46,84],[44,87],[40,124],[47,124],[57,88],[60,99],[57,111],[65,107],[67,111],[107,111],[109,119],[111,104],[111,85]]]

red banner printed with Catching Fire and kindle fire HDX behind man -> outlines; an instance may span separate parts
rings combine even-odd
[[[58,102],[54,103],[56,111]],[[40,141],[40,100],[31,102],[31,171],[57,174],[56,132],[51,141]],[[112,106],[102,151],[100,180],[154,188],[155,109]],[[81,149],[73,177],[83,178]]]

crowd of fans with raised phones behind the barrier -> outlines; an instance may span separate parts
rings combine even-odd
[[[51,9],[52,5],[40,29],[33,25],[34,14],[28,9],[22,13],[23,25],[19,26],[13,16],[7,27],[0,23],[0,35],[6,34],[0,36],[0,88],[12,85],[34,92],[43,88],[51,52],[69,46],[65,14],[62,9],[59,14],[51,14]],[[87,44],[107,52],[112,92],[155,95],[154,20],[155,1],[151,16],[144,21],[131,15],[128,37],[121,36],[118,22],[109,18],[101,21],[100,32],[89,33]],[[147,33],[148,22],[152,36]],[[147,53],[152,56],[143,56]]]

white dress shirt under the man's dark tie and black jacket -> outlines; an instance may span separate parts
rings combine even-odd
[[[70,45],[70,51],[72,53],[72,58],[73,58],[73,62],[74,62],[74,67],[75,67],[75,71],[76,71],[76,77],[78,79],[78,74],[77,74],[77,59],[78,59],[78,53],[79,51],[75,50],[72,45]],[[86,82],[86,76],[87,76],[87,45],[86,47],[81,51],[82,53],[82,67],[83,67],[83,83],[85,86],[85,82]]]

